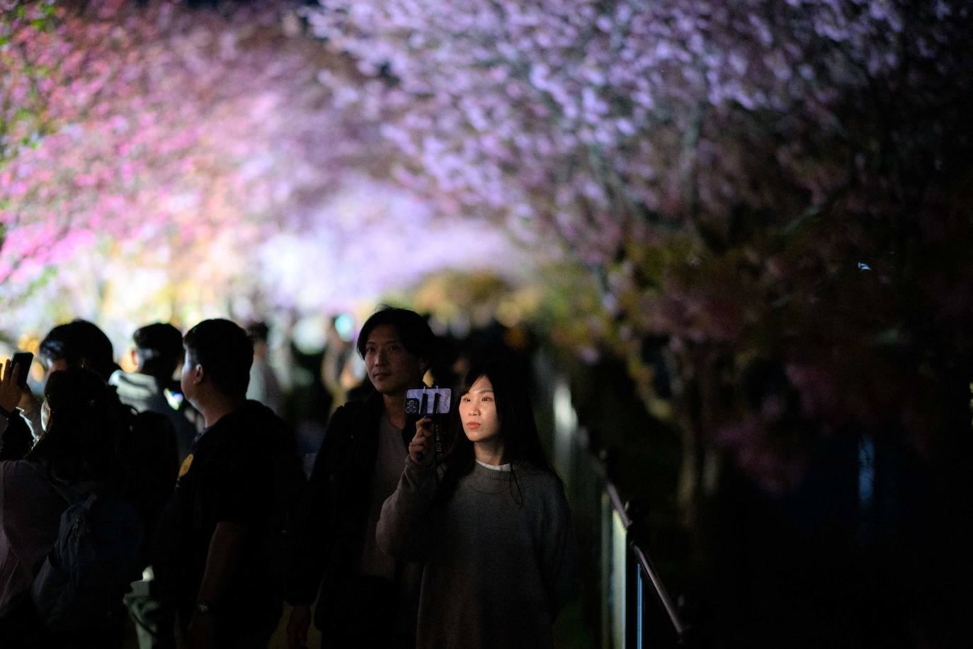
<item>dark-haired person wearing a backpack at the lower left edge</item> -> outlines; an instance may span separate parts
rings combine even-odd
[[[122,424],[104,381],[88,369],[70,367],[52,374],[45,396],[40,439],[24,459],[0,462],[0,646],[117,647],[125,620],[122,595],[131,577],[117,585],[114,609],[70,632],[47,631],[31,596],[69,505],[65,493],[86,498],[97,489],[104,496],[118,493],[123,482],[115,454]],[[134,548],[141,527],[132,531]]]

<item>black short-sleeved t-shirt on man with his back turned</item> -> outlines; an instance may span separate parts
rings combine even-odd
[[[279,612],[265,541],[275,511],[270,458],[288,449],[293,450],[293,438],[283,421],[252,401],[194,442],[153,550],[156,579],[184,621],[192,615],[217,523],[236,523],[245,530],[240,563],[220,609],[241,619]]]

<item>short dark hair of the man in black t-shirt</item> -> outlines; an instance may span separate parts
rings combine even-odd
[[[186,333],[183,344],[189,360],[202,366],[218,390],[230,396],[246,394],[253,343],[239,325],[222,318],[203,320]]]

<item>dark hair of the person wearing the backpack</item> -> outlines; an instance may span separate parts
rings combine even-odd
[[[122,432],[108,386],[95,372],[69,367],[54,372],[44,388],[51,409],[47,430],[27,453],[64,482],[117,484],[122,475],[117,446]]]

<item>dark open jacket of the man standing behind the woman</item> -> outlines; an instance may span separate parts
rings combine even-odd
[[[330,628],[330,616],[340,615],[336,611],[353,604],[346,600],[362,588],[355,566],[368,524],[378,424],[383,412],[378,392],[335,411],[311,471],[311,520],[302,552],[306,579],[289,599],[295,604],[310,604],[319,594],[314,624],[322,630]],[[402,436],[404,450],[413,438],[414,426],[415,419],[408,419]],[[336,602],[341,605],[336,606]]]

